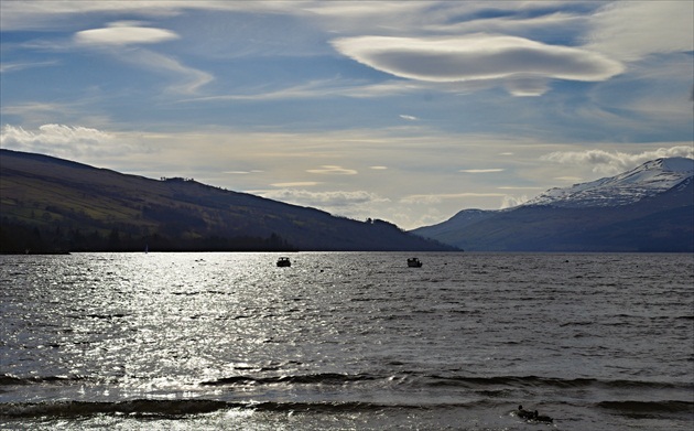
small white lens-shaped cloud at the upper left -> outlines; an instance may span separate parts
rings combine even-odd
[[[75,42],[83,45],[133,45],[161,43],[178,39],[164,29],[138,26],[134,22],[113,22],[105,29],[84,30],[75,34]]]

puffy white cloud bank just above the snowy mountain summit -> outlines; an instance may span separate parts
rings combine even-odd
[[[653,159],[673,157],[694,159],[694,147],[675,146],[636,154],[604,150],[560,151],[542,155],[540,160],[574,166],[592,166],[593,172],[618,174]]]

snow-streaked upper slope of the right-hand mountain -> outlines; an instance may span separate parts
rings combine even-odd
[[[551,188],[523,206],[575,208],[627,205],[684,185],[692,181],[693,175],[693,159],[658,159],[616,176],[565,188]]]

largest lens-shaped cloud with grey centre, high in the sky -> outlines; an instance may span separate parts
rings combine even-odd
[[[513,80],[519,95],[544,93],[538,79],[605,80],[623,71],[606,56],[579,47],[517,36],[474,34],[414,39],[361,36],[333,41],[341,54],[389,74],[425,82]],[[532,83],[528,91],[519,83]]]

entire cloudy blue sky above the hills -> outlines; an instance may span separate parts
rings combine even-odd
[[[0,147],[404,229],[694,158],[694,2],[0,2]]]

